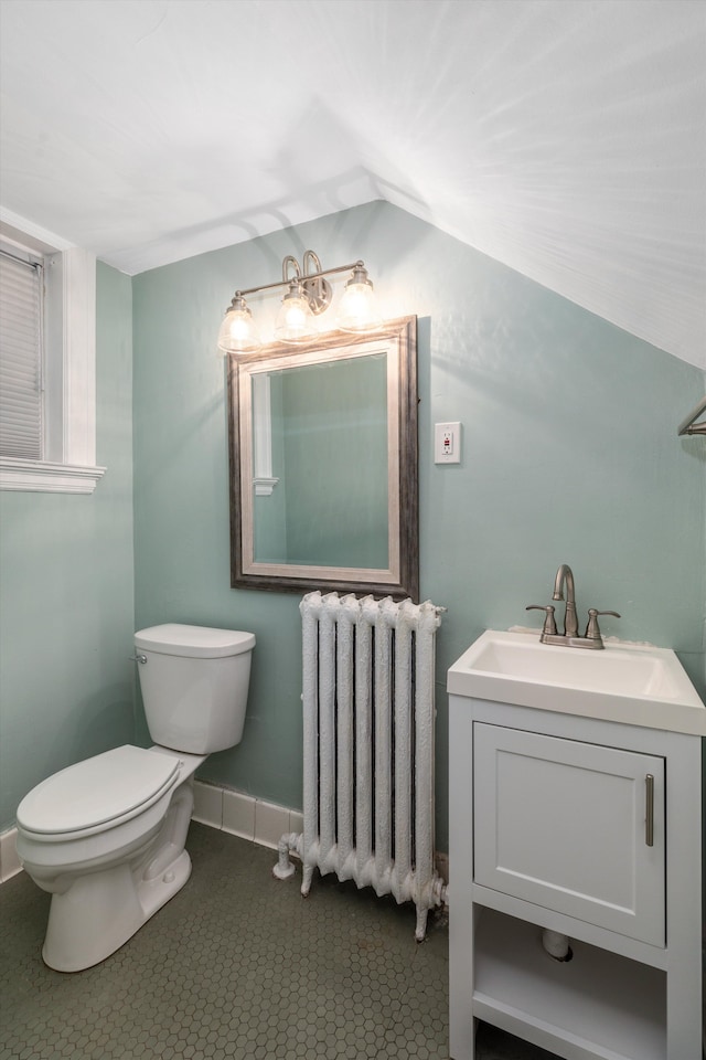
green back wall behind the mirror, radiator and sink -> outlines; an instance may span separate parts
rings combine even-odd
[[[704,373],[404,211],[377,202],[133,280],[136,625],[257,636],[242,744],[202,776],[301,805],[299,597],[229,587],[222,314],[312,247],[365,259],[383,315],[419,317],[420,581],[448,608],[437,655],[437,845],[446,848],[448,666],[485,628],[539,626],[571,564],[606,635],[674,647],[706,691],[706,447],[676,437]],[[261,320],[277,299],[253,299]],[[264,328],[266,330],[266,328]],[[432,425],[463,425],[460,465]],[[139,727],[140,739],[147,739]]]

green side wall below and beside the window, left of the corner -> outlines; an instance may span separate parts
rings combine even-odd
[[[90,496],[0,494],[0,830],[45,776],[133,733],[131,282],[98,265]]]

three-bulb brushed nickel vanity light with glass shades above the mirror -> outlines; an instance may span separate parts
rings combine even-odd
[[[282,261],[282,278],[274,284],[263,284],[236,290],[218,332],[218,349],[223,353],[254,353],[261,340],[257,333],[253,314],[245,295],[255,295],[274,287],[287,287],[275,324],[275,338],[282,342],[307,342],[315,336],[315,317],[331,305],[332,289],[325,276],[351,272],[339,304],[338,326],[342,331],[372,331],[382,324],[375,307],[373,285],[363,262],[321,268],[313,251],[306,251],[303,266],[291,254]]]

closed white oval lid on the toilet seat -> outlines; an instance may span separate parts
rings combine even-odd
[[[44,835],[85,831],[156,802],[179,773],[179,759],[126,745],[77,762],[38,784],[18,807],[18,824]]]

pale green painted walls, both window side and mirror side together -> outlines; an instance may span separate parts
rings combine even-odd
[[[448,608],[439,848],[446,669],[484,628],[538,627],[525,604],[549,600],[560,562],[580,611],[622,614],[606,634],[673,646],[706,695],[706,446],[675,433],[704,373],[372,203],[133,280],[99,266],[97,458],[108,470],[90,497],[0,495],[0,828],[50,773],[148,742],[128,656],[135,628],[164,621],[257,635],[244,740],[202,775],[300,805],[299,597],[229,587],[215,335],[237,285],[270,282],[307,247],[324,265],[363,257],[384,315],[419,317],[421,593]],[[253,308],[271,320],[277,298]],[[432,424],[454,420],[462,463],[437,466]]]

